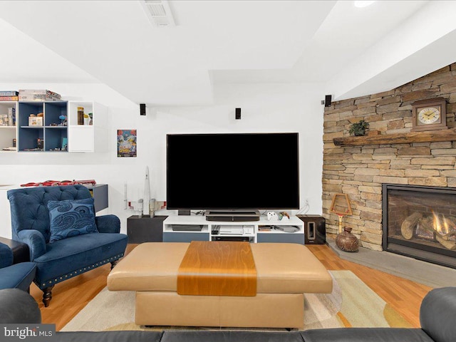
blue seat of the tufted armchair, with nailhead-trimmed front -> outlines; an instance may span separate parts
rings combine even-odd
[[[99,233],[46,244],[46,254],[34,260],[38,268],[35,283],[43,289],[118,259],[123,256],[127,242],[125,234]]]

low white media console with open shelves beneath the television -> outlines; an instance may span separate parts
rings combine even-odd
[[[273,226],[297,227],[296,232],[284,232]],[[268,229],[268,227],[271,227]],[[163,242],[249,241],[289,242],[304,244],[304,222],[298,217],[268,221],[260,217],[252,222],[207,221],[202,216],[170,216],[163,222]]]

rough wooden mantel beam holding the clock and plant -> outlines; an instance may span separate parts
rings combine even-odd
[[[409,144],[410,142],[437,142],[456,140],[456,132],[450,130],[434,130],[429,132],[410,132],[383,135],[363,135],[362,137],[334,138],[336,146]]]

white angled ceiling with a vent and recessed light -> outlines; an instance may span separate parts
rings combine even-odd
[[[135,103],[212,101],[220,83],[318,83],[336,99],[454,63],[456,1],[0,1],[0,83],[104,83]],[[322,94],[323,97],[324,94]]]

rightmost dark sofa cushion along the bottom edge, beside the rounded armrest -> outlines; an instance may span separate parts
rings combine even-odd
[[[306,342],[433,342],[418,328],[311,329],[301,335]]]

